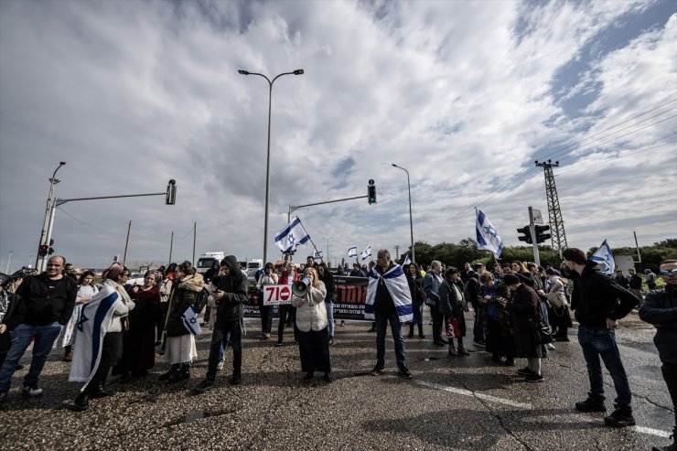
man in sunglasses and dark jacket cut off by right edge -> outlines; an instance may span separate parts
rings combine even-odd
[[[677,260],[666,260],[661,263],[659,271],[665,281],[662,290],[650,291],[639,307],[639,317],[656,327],[653,343],[661,358],[663,379],[668,386],[672,398],[672,410],[677,405]],[[672,428],[672,445],[655,447],[658,451],[677,450],[677,413]]]

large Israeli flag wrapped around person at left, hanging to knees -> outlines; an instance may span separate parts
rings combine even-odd
[[[70,362],[71,382],[85,382],[86,386],[99,368],[103,337],[111,326],[115,306],[124,304],[113,284],[117,285],[113,281],[110,284],[104,282],[101,291],[82,305],[76,326],[78,339]]]

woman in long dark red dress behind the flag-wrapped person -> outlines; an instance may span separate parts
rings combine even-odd
[[[156,274],[147,271],[144,285],[134,285],[128,293],[134,310],[129,313],[129,330],[124,333],[123,357],[113,368],[113,374],[123,375],[121,382],[145,376],[156,364],[155,319],[160,306]]]

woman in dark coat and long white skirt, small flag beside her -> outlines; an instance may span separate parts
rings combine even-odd
[[[160,376],[160,381],[170,383],[188,381],[190,378],[190,363],[198,357],[195,347],[195,336],[184,326],[181,318],[190,306],[195,306],[198,294],[204,286],[202,274],[196,274],[193,264],[185,261],[177,266],[176,286],[169,295],[167,309],[167,346],[165,357],[171,363],[171,368]]]

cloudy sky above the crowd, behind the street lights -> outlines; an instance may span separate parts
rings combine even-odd
[[[38,248],[48,177],[69,202],[54,248],[85,267],[263,255],[268,85],[276,74],[268,260],[289,205],[332,260],[474,236],[508,245],[556,186],[570,246],[677,236],[677,4],[0,2],[0,257]],[[300,253],[305,256],[306,247]],[[35,257],[33,257],[35,258]],[[298,258],[297,258],[298,259]],[[11,269],[10,268],[10,269]]]

